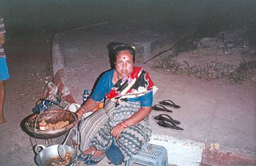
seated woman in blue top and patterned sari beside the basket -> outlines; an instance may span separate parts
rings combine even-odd
[[[130,45],[111,43],[108,49],[115,69],[100,77],[90,98],[77,111],[81,118],[106,97],[104,108],[79,125],[81,154],[78,160],[86,165],[97,164],[104,158],[112,137],[126,161],[137,154],[151,136],[148,115],[155,86],[148,72],[134,66],[135,50]]]

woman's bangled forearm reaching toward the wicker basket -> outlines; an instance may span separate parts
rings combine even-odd
[[[87,99],[84,104],[77,110],[76,114],[78,119],[80,119],[84,113],[92,111],[100,102],[95,101],[91,98]]]

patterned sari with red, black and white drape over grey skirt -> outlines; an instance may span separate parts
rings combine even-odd
[[[140,67],[135,67],[131,75],[117,81],[106,95],[104,108],[81,121],[80,150],[93,145],[98,150],[106,151],[112,144],[112,128],[141,109],[140,102],[131,102],[127,98],[137,98],[151,91],[154,93],[155,88],[148,73]],[[116,146],[120,147],[124,160],[139,152],[143,143],[150,140],[151,132],[148,117],[122,131]]]

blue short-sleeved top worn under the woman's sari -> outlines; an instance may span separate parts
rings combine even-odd
[[[113,73],[114,69],[107,71],[100,77],[95,89],[90,96],[91,99],[95,101],[102,101],[104,96],[109,93],[111,88],[114,86],[113,80]],[[130,102],[138,102],[140,101],[141,107],[151,107],[153,104],[153,92],[150,91],[149,93],[139,96],[138,98],[128,98]]]

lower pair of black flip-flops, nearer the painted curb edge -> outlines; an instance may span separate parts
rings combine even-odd
[[[177,126],[180,125],[180,121],[173,119],[171,116],[167,114],[159,114],[158,116],[152,117],[156,120],[156,125],[163,128],[170,128],[172,130],[183,131],[184,129]]]

